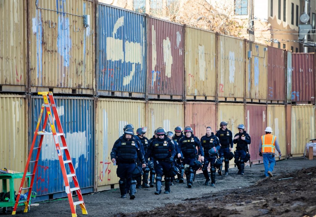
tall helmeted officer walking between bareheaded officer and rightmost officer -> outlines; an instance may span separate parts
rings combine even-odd
[[[228,175],[229,168],[229,152],[233,150],[233,133],[227,129],[227,122],[222,121],[220,123],[220,129],[217,131],[216,136],[221,144],[221,149],[219,150],[220,160],[225,162],[225,175]],[[233,153],[231,153],[233,154]],[[225,159],[224,159],[225,158]],[[222,175],[222,166],[218,170],[218,174]]]

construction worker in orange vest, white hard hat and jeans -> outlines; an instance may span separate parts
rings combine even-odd
[[[261,136],[261,139],[259,141],[259,156],[263,157],[265,177],[273,177],[272,171],[276,163],[276,160],[274,158],[275,149],[279,152],[279,156],[281,156],[282,154],[276,136],[271,134],[272,128],[267,127],[264,131],[265,135]]]

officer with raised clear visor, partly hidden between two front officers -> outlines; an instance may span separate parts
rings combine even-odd
[[[138,138],[140,139],[140,141],[142,142],[143,144],[143,147],[144,147],[144,151],[145,151],[145,156],[146,156],[146,153],[147,153],[147,149],[148,149],[148,146],[149,146],[149,139],[147,139],[145,137],[145,133],[147,131],[147,127],[143,127],[143,128],[138,128],[136,130],[136,134],[138,136]],[[145,159],[146,161],[146,164],[148,164],[148,159]],[[149,188],[149,185],[148,185],[148,176],[149,176],[149,167],[146,166],[145,168],[143,168],[143,171],[144,171],[144,174],[143,174],[143,185],[142,187],[144,188]],[[142,177],[138,177],[137,178],[137,185],[141,183],[141,179]],[[137,186],[136,186],[137,188]],[[140,188],[140,187],[139,187]]]

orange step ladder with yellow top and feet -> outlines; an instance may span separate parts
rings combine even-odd
[[[80,207],[82,209],[82,214],[88,214],[86,206],[85,206],[85,204],[83,202],[81,190],[80,190],[79,183],[78,183],[78,180],[77,180],[77,176],[76,176],[76,173],[75,173],[75,168],[74,168],[74,166],[72,164],[72,161],[71,161],[71,157],[70,157],[69,149],[68,149],[68,146],[67,146],[67,143],[66,143],[64,131],[63,131],[63,128],[62,128],[61,123],[60,123],[60,119],[59,119],[59,116],[58,116],[56,104],[55,104],[55,101],[54,101],[54,98],[53,98],[53,93],[52,92],[38,92],[38,94],[39,95],[43,95],[44,104],[42,104],[42,107],[41,107],[41,110],[40,110],[40,117],[39,117],[37,125],[36,125],[36,130],[34,132],[34,138],[33,138],[33,141],[32,141],[31,150],[30,150],[30,153],[29,153],[28,158],[27,158],[27,163],[26,163],[26,166],[25,166],[25,169],[24,169],[23,178],[22,178],[22,181],[21,181],[19,192],[17,194],[17,198],[16,198],[16,201],[15,201],[15,206],[13,208],[12,215],[15,215],[16,208],[19,205],[19,203],[24,203],[25,204],[25,208],[24,208],[24,212],[25,213],[29,209],[29,205],[28,204],[29,204],[30,197],[31,197],[32,186],[33,186],[33,183],[34,183],[34,177],[35,177],[35,173],[36,173],[36,169],[37,169],[37,163],[38,163],[38,160],[39,160],[39,157],[40,157],[40,150],[41,150],[41,147],[42,147],[42,142],[43,142],[44,135],[53,135],[53,138],[54,138],[54,141],[55,141],[56,150],[57,150],[57,154],[58,154],[58,159],[59,159],[59,163],[60,163],[60,167],[61,167],[61,170],[62,170],[62,173],[63,173],[63,177],[64,177],[65,191],[66,191],[66,193],[68,195],[68,200],[69,200],[69,204],[70,204],[72,217],[77,216],[77,214],[76,214],[76,205],[80,205]],[[44,111],[45,108],[46,108],[46,111]],[[52,110],[51,110],[51,108],[52,108]],[[40,122],[41,122],[41,119],[42,119],[42,116],[43,116],[44,112],[45,112],[45,119],[44,119],[43,130],[39,131]],[[52,112],[53,112],[54,118],[56,120],[58,132],[56,132],[56,128],[55,128]],[[49,124],[51,125],[52,132],[46,132],[45,131],[47,120],[49,121]],[[38,147],[34,147],[37,135],[40,135],[40,143],[39,143]],[[61,143],[59,142],[58,137],[60,137]],[[62,146],[60,144],[62,144]],[[32,153],[33,153],[34,150],[37,151],[36,159],[34,161],[30,161],[31,157],[32,157]],[[63,152],[64,152],[64,154],[66,156],[65,160],[63,158]],[[33,171],[31,172],[31,174],[27,174],[27,168],[28,168],[30,163],[34,163]],[[70,168],[70,174],[67,174],[67,172],[66,172],[66,166],[65,166],[66,164],[68,164],[68,166]],[[31,176],[31,183],[30,183],[30,187],[23,188],[23,183],[25,181],[26,176]],[[74,182],[74,185],[75,185],[74,188],[70,188],[68,178],[72,178],[73,179],[73,182]],[[28,190],[27,200],[19,201],[22,190]],[[73,201],[73,197],[72,197],[72,192],[73,191],[76,191],[79,201],[76,201],[76,202]]]

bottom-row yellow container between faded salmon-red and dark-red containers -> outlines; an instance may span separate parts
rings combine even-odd
[[[232,131],[233,138],[238,133],[237,126],[245,124],[245,105],[241,103],[218,103],[217,105],[217,123],[228,122],[227,129]],[[247,132],[247,131],[246,131]],[[251,137],[251,135],[250,135]],[[236,149],[236,144],[232,152]],[[234,165],[234,159],[229,161],[229,165]]]

